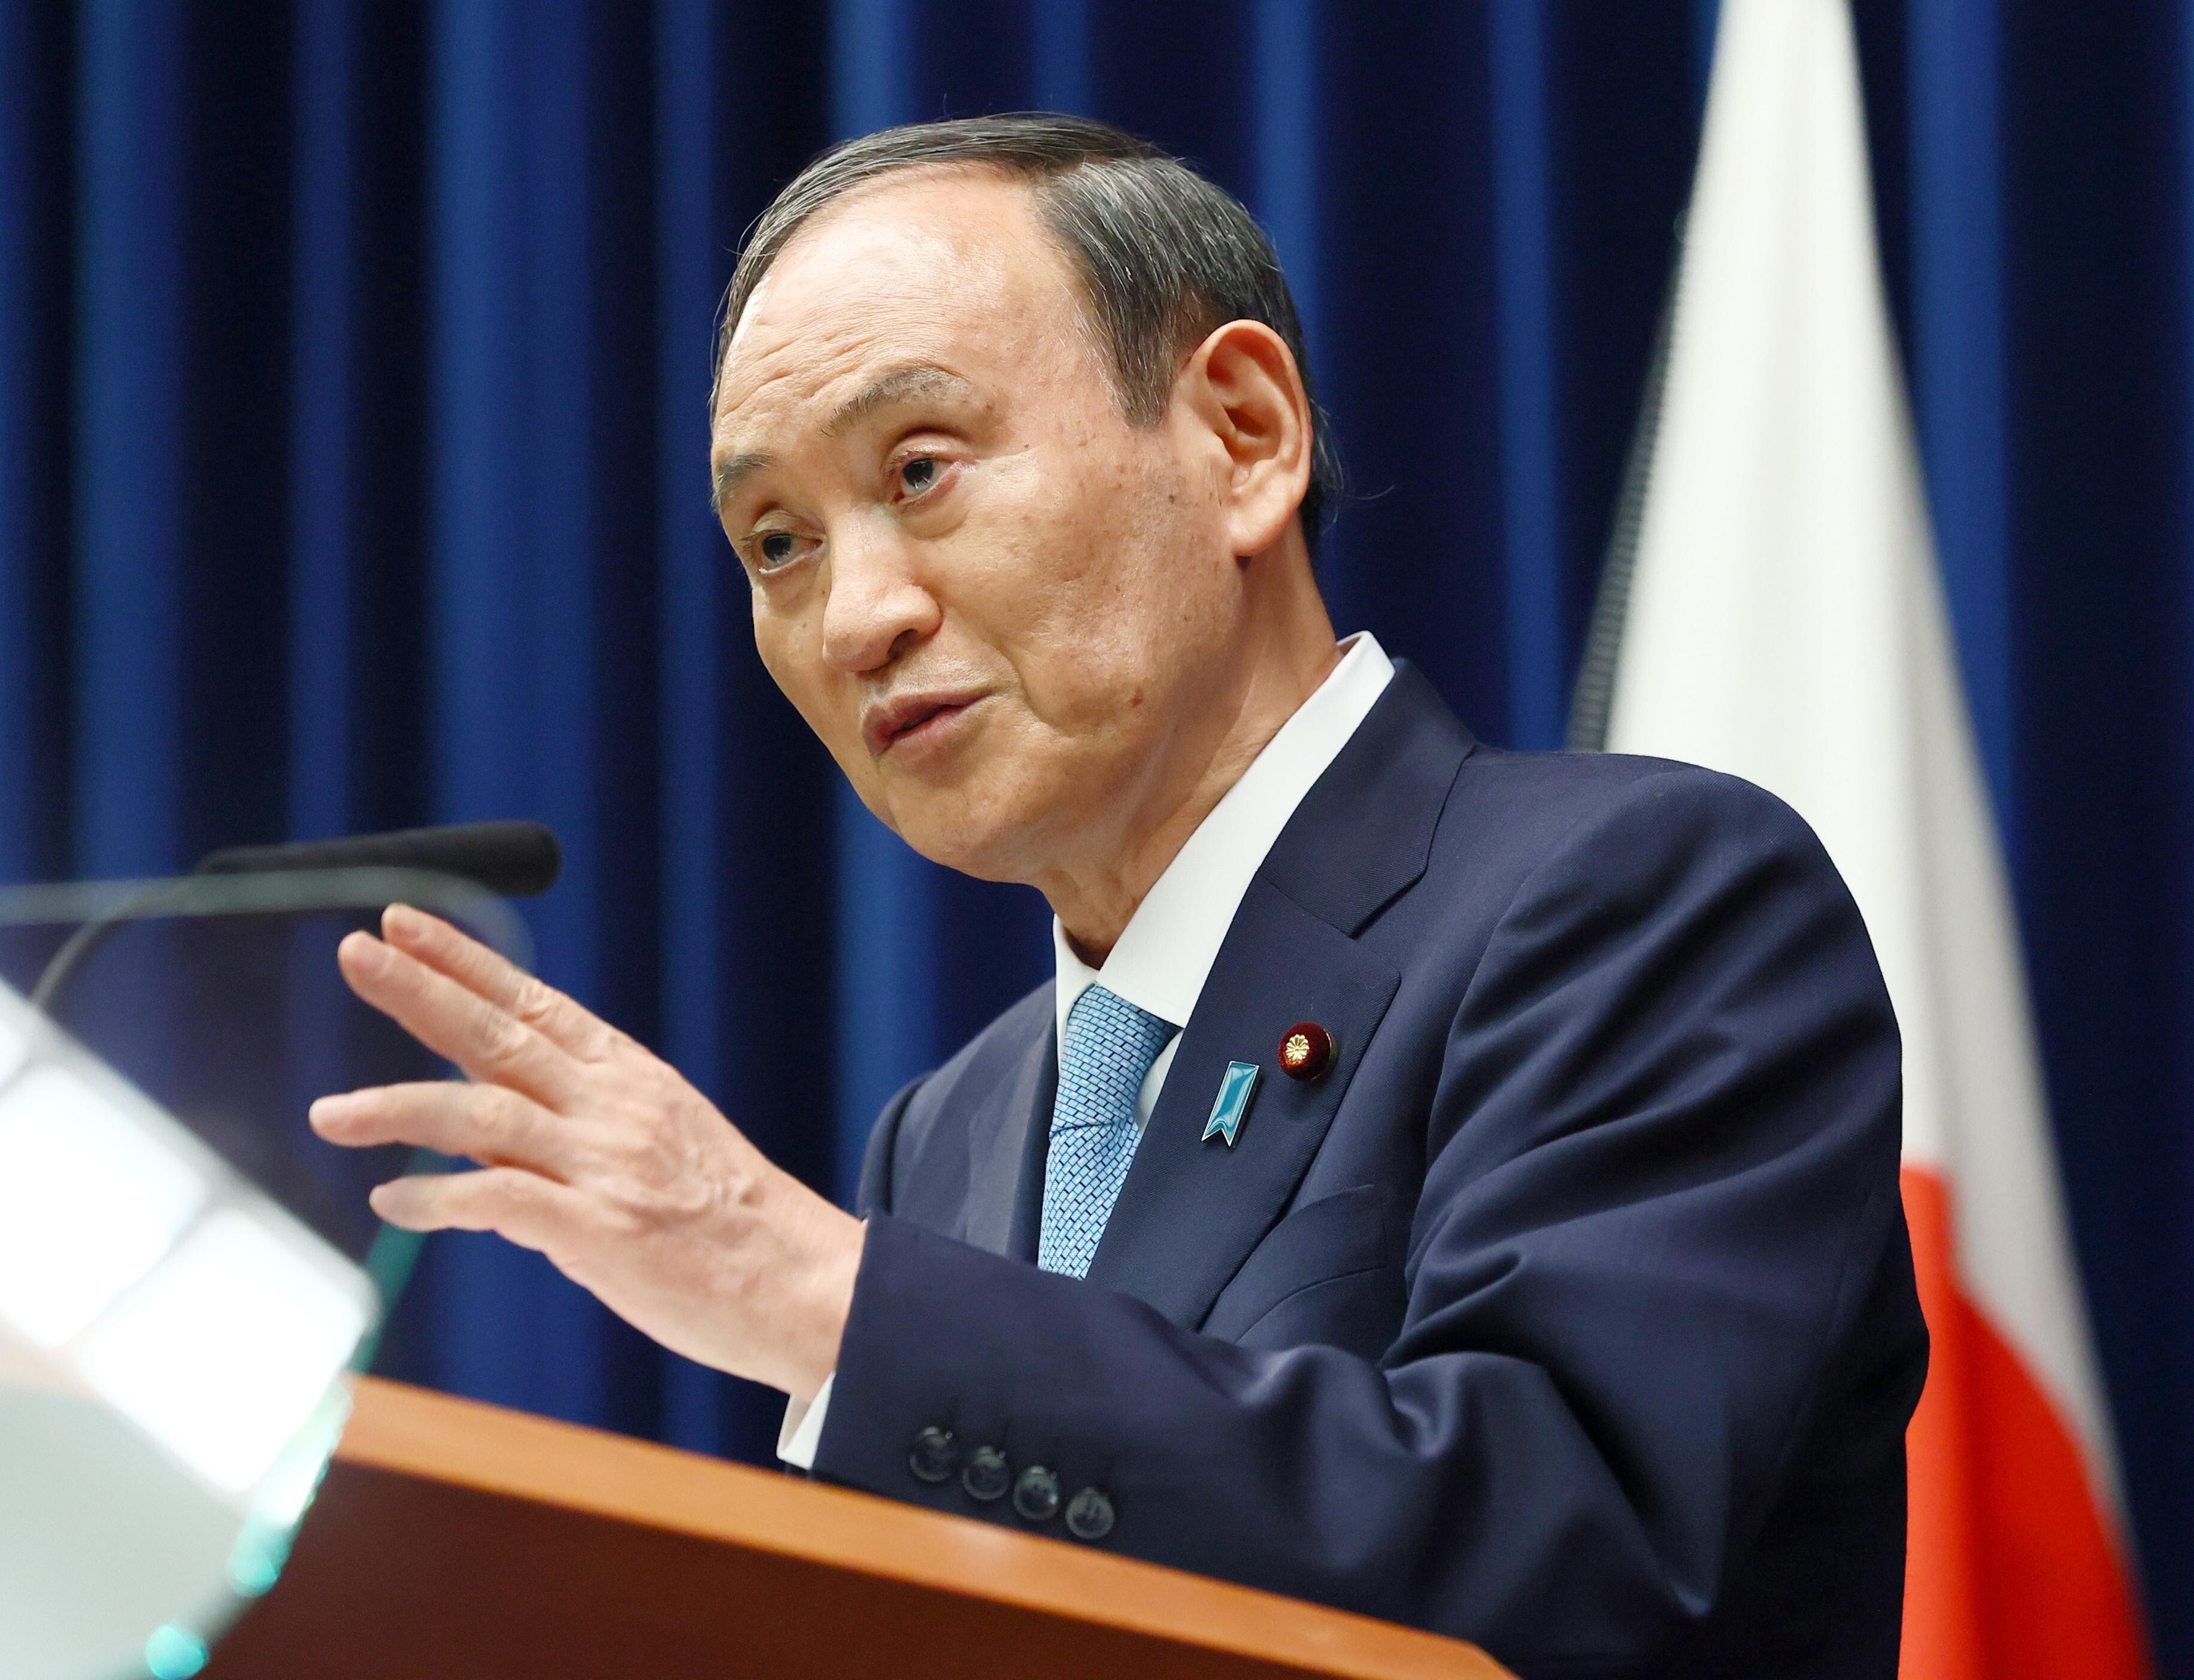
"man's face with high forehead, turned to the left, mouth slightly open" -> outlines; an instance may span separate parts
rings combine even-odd
[[[1121,417],[1022,184],[904,173],[803,228],[713,432],[761,658],[917,851],[1042,884],[1183,796],[1242,680],[1233,463],[1178,401]]]

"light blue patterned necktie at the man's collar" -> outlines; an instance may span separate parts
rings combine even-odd
[[[1134,1125],[1134,1099],[1172,1035],[1172,1024],[1101,985],[1066,1011],[1044,1160],[1044,1224],[1036,1239],[1042,1270],[1088,1276],[1143,1136]]]

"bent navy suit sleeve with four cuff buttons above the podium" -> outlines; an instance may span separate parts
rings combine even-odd
[[[1422,1127],[1376,1362],[871,1217],[818,1474],[1011,1520],[911,1474],[941,1428],[1104,1489],[1112,1548],[1531,1673],[1681,1645],[1904,1244],[1896,1024],[1819,842],[1692,770],[1575,822],[1470,972]]]

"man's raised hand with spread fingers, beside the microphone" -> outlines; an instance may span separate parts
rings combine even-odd
[[[779,1171],[676,1068],[445,921],[349,934],[351,989],[470,1081],[312,1105],[329,1143],[412,1143],[476,1171],[399,1178],[406,1230],[496,1230],[691,1360],[812,1399],[838,1364],[862,1224]]]

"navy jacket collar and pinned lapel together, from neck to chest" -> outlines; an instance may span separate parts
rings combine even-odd
[[[1395,667],[1242,897],[1097,1244],[1093,1283],[1194,1329],[1286,1213],[1402,980],[1354,934],[1424,875],[1472,748],[1433,686]],[[1336,1046],[1312,1083],[1279,1070],[1281,1035],[1301,1020]],[[1262,1068],[1231,1149],[1202,1138],[1229,1062]],[[1038,1127],[1049,1132],[1049,1112]]]

